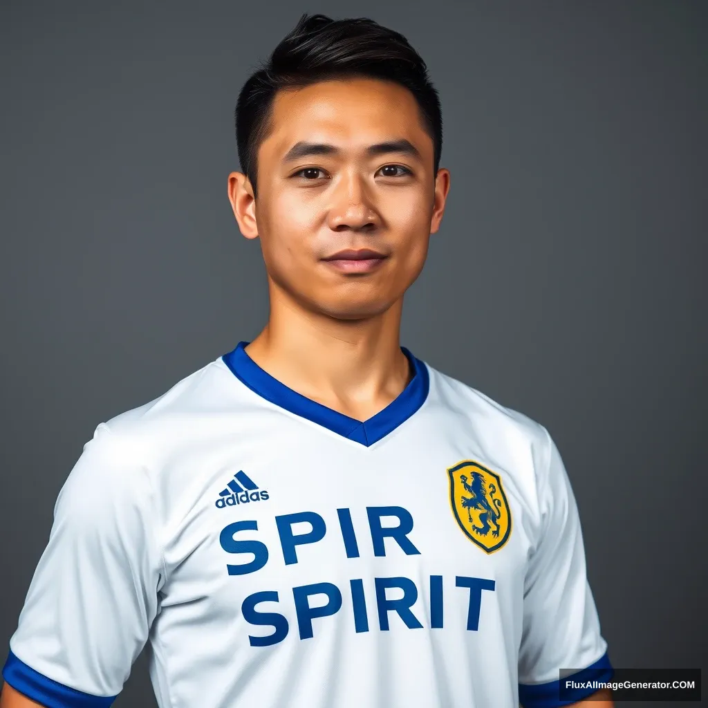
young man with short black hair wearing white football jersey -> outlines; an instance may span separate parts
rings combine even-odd
[[[612,668],[547,430],[399,346],[438,231],[438,96],[405,38],[303,16],[236,110],[270,319],[96,428],[10,641],[1,708],[566,705]],[[589,703],[611,706],[607,700]]]

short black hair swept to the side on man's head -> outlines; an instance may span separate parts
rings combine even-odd
[[[268,137],[275,94],[355,76],[393,81],[413,93],[423,125],[433,139],[434,168],[438,172],[442,150],[440,98],[426,62],[404,35],[365,17],[333,20],[305,13],[268,61],[246,81],[236,102],[239,162],[254,195],[258,148]]]

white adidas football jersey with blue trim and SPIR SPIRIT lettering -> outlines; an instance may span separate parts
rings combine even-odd
[[[535,708],[610,678],[546,428],[406,349],[362,423],[244,346],[84,445],[10,685],[109,706],[147,643],[161,708]]]

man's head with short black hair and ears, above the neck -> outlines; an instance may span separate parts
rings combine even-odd
[[[244,236],[261,238],[271,296],[336,319],[399,301],[442,218],[441,126],[402,35],[303,16],[236,104],[242,172],[229,198]]]

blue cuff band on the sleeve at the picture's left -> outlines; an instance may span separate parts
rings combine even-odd
[[[15,690],[47,708],[108,708],[115,696],[93,696],[47,678],[10,652],[3,678]]]

